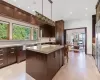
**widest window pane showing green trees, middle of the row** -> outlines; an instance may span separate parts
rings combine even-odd
[[[30,31],[30,27],[13,24],[13,40],[30,40]]]

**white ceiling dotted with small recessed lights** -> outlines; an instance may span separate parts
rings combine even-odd
[[[4,0],[33,14],[42,11],[42,0]],[[44,0],[46,1],[46,0]],[[90,19],[96,14],[95,6],[98,0],[52,0],[53,20]],[[45,3],[46,4],[46,3]],[[29,8],[28,8],[29,7]],[[46,7],[44,7],[46,8]]]

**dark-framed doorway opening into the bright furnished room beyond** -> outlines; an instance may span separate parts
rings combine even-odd
[[[75,53],[84,52],[87,54],[87,28],[73,28],[64,30],[64,44],[69,50]]]

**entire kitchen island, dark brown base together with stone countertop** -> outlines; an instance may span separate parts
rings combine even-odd
[[[63,66],[63,46],[38,45],[26,48],[26,72],[36,80],[52,80]]]

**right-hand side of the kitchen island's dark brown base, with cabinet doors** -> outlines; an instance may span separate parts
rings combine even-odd
[[[63,66],[63,56],[62,50],[58,50],[48,55],[47,57],[47,70],[48,70],[48,77],[52,79],[58,70]]]

